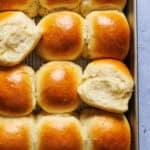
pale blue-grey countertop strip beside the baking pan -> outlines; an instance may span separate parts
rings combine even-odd
[[[140,150],[150,150],[150,0],[138,0]]]

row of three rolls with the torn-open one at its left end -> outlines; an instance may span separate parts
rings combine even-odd
[[[124,60],[130,27],[116,10],[83,18],[72,11],[50,13],[38,25],[18,11],[0,13],[0,66],[21,63],[34,49],[46,61],[113,58]]]

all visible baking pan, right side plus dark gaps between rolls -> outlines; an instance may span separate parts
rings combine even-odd
[[[139,150],[139,109],[138,109],[138,53],[137,53],[137,0],[128,0],[125,14],[131,28],[131,46],[130,52],[127,56],[125,63],[128,65],[135,81],[135,89],[132,99],[129,104],[129,111],[127,117],[131,125],[132,143],[131,150]],[[36,18],[39,20],[39,17]],[[33,66],[37,70],[44,61],[38,57],[34,52],[25,60],[25,63]],[[80,58],[76,61],[83,68],[87,65],[88,61]]]

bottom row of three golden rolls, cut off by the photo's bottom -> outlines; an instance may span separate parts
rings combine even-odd
[[[0,117],[1,150],[130,150],[124,115],[86,109],[77,114]]]

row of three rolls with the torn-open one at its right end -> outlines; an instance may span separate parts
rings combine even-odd
[[[124,113],[134,81],[118,60],[92,61],[84,72],[69,61],[52,61],[35,73],[27,65],[0,69],[0,114],[29,115],[38,104],[48,113],[69,113],[83,103],[109,112]]]

